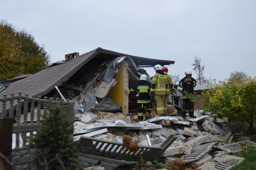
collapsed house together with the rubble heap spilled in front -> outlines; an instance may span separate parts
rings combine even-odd
[[[136,57],[101,48],[83,55],[72,53],[65,56],[65,61],[12,82],[0,97],[21,92],[28,96],[74,101],[73,139],[78,141],[78,160],[84,167],[100,163],[106,170],[112,170],[136,164],[140,156],[147,161],[162,157],[166,162],[181,158],[186,163],[197,164],[202,170],[224,170],[240,163],[243,158],[229,155],[242,150],[240,143],[215,145],[217,142],[230,143],[233,138],[245,139],[241,134],[231,134],[225,122],[213,122],[201,111],[195,112],[197,118],[186,120],[177,114],[142,122],[131,119],[129,114],[137,109],[137,101],[130,88],[139,81],[141,74],[146,74],[150,82],[150,76],[142,68],[156,64],[171,65],[174,61]],[[7,114],[8,102],[4,106]],[[23,105],[24,101],[20,103]],[[175,106],[175,103],[171,113],[180,104]],[[12,105],[15,109],[16,101]],[[0,111],[2,107],[0,103]],[[130,152],[123,146],[124,135],[132,136],[139,143],[138,152]],[[248,145],[255,146],[249,140],[246,139]],[[214,147],[221,151],[212,157],[209,152]],[[14,158],[13,162],[19,159]]]

